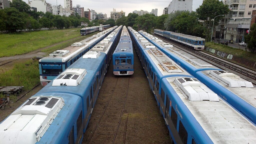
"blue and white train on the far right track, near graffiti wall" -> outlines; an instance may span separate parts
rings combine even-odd
[[[181,43],[195,50],[203,50],[205,48],[205,39],[201,37],[170,32],[162,29],[154,29],[154,34]]]

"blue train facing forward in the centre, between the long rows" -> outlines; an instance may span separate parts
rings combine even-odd
[[[127,28],[124,26],[120,41],[113,53],[113,73],[114,75],[132,75],[133,68],[133,47]]]

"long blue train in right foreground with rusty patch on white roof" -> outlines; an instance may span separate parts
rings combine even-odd
[[[128,30],[173,143],[255,143],[255,125],[141,34]]]

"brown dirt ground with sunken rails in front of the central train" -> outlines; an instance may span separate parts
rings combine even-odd
[[[171,143],[167,127],[159,114],[154,95],[150,91],[147,77],[136,54],[134,63],[135,72],[132,76],[119,77],[113,75],[113,65],[110,64],[89,126],[84,134],[83,144],[89,142],[112,93],[110,103],[89,143],[113,142],[127,92],[128,80],[130,84],[124,113],[114,143]]]

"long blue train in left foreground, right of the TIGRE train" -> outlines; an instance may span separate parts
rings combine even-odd
[[[115,39],[118,37],[111,39],[108,48]],[[24,102],[0,123],[1,143],[81,144],[110,52],[86,53]]]

